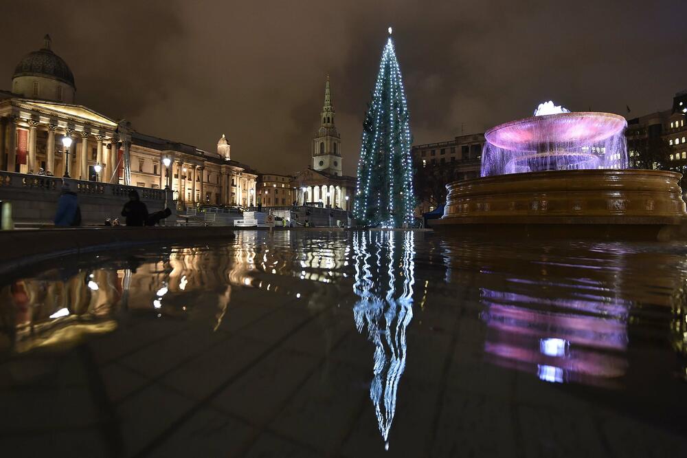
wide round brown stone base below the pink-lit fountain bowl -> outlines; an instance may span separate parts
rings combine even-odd
[[[431,227],[499,238],[675,239],[687,236],[681,176],[574,170],[454,182],[447,185],[444,216]]]

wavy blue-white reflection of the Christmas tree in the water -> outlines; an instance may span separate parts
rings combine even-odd
[[[396,413],[398,382],[405,370],[405,329],[413,318],[415,243],[412,232],[370,234],[369,239],[365,233],[353,237],[353,291],[361,298],[353,315],[358,331],[367,327],[375,346],[370,398],[387,442]],[[398,246],[397,238],[401,239]],[[398,265],[400,272],[396,272]]]

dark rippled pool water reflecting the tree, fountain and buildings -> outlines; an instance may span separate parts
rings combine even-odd
[[[687,456],[687,247],[238,232],[0,289],[6,456]]]

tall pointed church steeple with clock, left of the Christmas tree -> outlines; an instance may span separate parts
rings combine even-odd
[[[341,176],[341,136],[334,124],[329,76],[324,89],[324,107],[320,120],[322,125],[313,138],[313,169],[329,175]]]

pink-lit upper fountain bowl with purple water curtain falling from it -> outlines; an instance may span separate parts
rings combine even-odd
[[[627,168],[627,121],[611,113],[533,116],[484,134],[482,177],[550,170]]]

